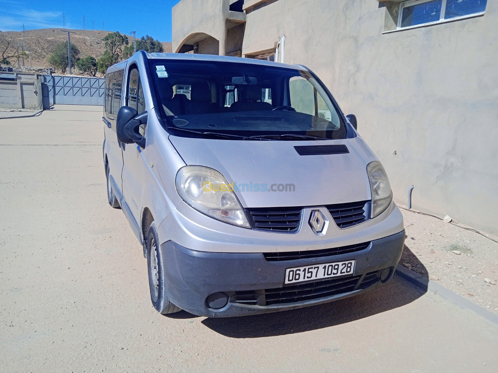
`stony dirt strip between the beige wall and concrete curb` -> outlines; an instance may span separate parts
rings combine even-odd
[[[401,212],[400,263],[498,314],[498,243],[432,216]]]

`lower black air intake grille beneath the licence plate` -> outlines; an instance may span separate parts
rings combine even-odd
[[[349,276],[339,279],[320,280],[277,287],[274,289],[236,291],[231,302],[252,305],[259,304],[264,306],[325,298],[327,296],[343,294],[353,290],[365,289],[380,280],[380,272],[382,272],[382,270],[370,272],[366,274],[363,279],[362,275]],[[360,280],[361,283],[359,283]]]

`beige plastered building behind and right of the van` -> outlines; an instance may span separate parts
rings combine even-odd
[[[498,234],[497,1],[181,0],[172,47],[309,67],[395,201]]]

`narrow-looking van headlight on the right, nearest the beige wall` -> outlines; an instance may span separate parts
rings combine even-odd
[[[384,211],[391,203],[392,192],[387,174],[379,161],[367,166],[370,189],[372,190],[372,218]]]

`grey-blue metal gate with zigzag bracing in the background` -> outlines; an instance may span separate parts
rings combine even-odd
[[[43,108],[54,103],[69,105],[104,105],[104,78],[43,75]]]

